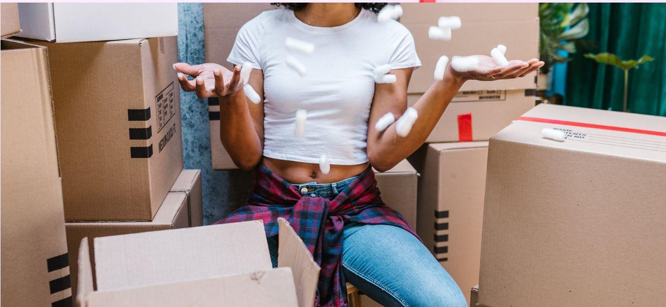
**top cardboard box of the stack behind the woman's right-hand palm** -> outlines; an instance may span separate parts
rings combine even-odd
[[[412,74],[408,92],[424,93],[434,82],[433,72],[442,55],[484,54],[498,44],[507,47],[511,59],[539,57],[538,3],[402,3],[400,22],[412,32],[423,66]],[[453,30],[451,41],[428,39],[428,27],[437,25],[440,16],[459,16],[460,29]],[[493,82],[469,81],[460,90],[521,90],[535,88],[535,72],[524,78]]]

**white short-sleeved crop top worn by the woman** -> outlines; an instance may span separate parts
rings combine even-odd
[[[313,54],[288,51],[287,37],[314,44]],[[285,63],[292,55],[308,69],[300,76]],[[421,66],[412,34],[397,21],[377,23],[363,9],[340,27],[312,27],[288,9],[265,11],[248,21],[227,60],[264,72],[264,156],[356,165],[368,161],[368,117],[376,66]],[[305,135],[294,136],[296,110],[307,112]]]

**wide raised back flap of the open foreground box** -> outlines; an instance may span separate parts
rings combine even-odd
[[[262,221],[99,237],[94,245],[97,290],[272,268]]]

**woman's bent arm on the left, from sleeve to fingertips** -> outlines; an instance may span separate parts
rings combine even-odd
[[[174,64],[176,70],[194,76],[187,80],[178,74],[183,90],[196,92],[199,98],[217,96],[220,101],[220,141],[234,164],[240,169],[252,169],[260,161],[264,144],[264,75],[253,69],[248,84],[259,94],[254,104],[245,96],[240,78],[240,66],[233,71],[218,64]]]

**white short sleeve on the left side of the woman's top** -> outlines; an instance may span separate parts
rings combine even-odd
[[[263,33],[262,15],[254,17],[243,25],[236,35],[234,47],[226,60],[232,64],[242,65],[250,62],[252,68],[261,69],[259,54],[259,42]]]

